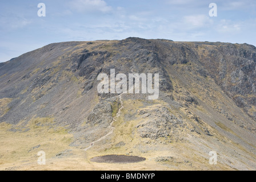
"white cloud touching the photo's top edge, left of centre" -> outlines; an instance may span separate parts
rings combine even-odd
[[[70,2],[71,8],[79,12],[93,12],[99,11],[102,13],[108,13],[112,10],[111,6],[107,6],[107,3],[103,0],[75,0]]]

